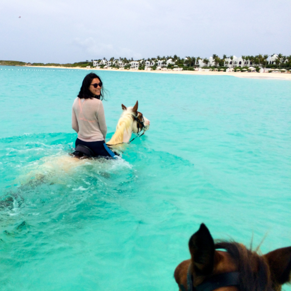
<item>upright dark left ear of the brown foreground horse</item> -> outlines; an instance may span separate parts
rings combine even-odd
[[[197,275],[209,275],[213,271],[214,241],[204,223],[199,230],[190,237],[189,250],[194,270]]]

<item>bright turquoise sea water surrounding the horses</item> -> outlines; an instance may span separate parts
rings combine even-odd
[[[290,245],[290,81],[98,71],[107,137],[136,100],[150,129],[123,159],[64,171],[88,71],[1,69],[1,290],[178,290],[202,222]]]

